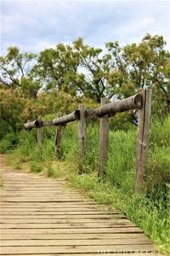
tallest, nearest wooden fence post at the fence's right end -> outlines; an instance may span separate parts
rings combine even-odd
[[[142,108],[139,108],[139,126],[136,143],[135,192],[143,189],[144,173],[150,140],[151,90],[142,90]]]

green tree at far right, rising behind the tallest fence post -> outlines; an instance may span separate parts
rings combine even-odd
[[[118,96],[130,96],[142,88],[153,91],[153,105],[156,110],[170,110],[170,54],[164,49],[166,43],[162,36],[151,37],[147,34],[141,43],[108,43],[106,47],[115,62],[116,70],[109,75],[109,81],[117,83]]]

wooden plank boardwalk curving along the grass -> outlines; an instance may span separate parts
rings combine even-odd
[[[10,170],[3,177],[1,255],[148,256],[156,250],[125,216],[102,209],[65,181]]]

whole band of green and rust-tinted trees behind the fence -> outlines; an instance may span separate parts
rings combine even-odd
[[[169,113],[170,53],[165,46],[162,36],[146,34],[139,44],[109,42],[105,49],[82,38],[37,55],[9,47],[0,56],[0,119],[16,126],[20,117],[24,122],[31,114],[57,111],[54,95],[63,106],[68,97],[71,104],[82,98],[95,104],[101,97],[124,98],[142,88],[152,89],[154,113]]]

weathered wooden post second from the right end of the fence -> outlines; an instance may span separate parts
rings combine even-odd
[[[101,106],[109,103],[109,99],[101,98]],[[107,161],[109,145],[109,116],[108,114],[99,119],[99,166],[98,176],[105,174],[105,166]]]

